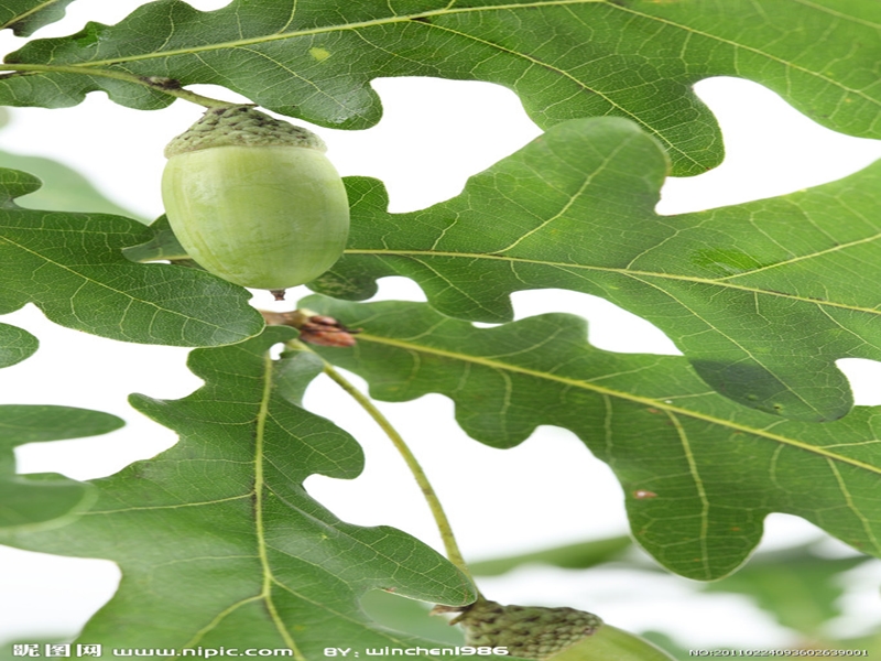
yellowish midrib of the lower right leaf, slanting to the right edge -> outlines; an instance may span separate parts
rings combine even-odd
[[[619,400],[628,401],[631,403],[644,405],[652,409],[657,409],[660,411],[664,411],[668,415],[683,415],[685,418],[690,418],[694,420],[699,420],[701,422],[708,422],[710,424],[716,424],[719,426],[724,426],[730,429],[732,431],[742,432],[747,434],[751,434],[753,436],[760,436],[766,438],[769,441],[777,442],[782,445],[787,445],[791,447],[795,447],[798,449],[803,449],[805,452],[809,452],[815,455],[819,455],[826,457],[828,459],[833,459],[836,462],[840,462],[842,464],[849,464],[857,468],[861,468],[863,470],[868,470],[870,473],[875,473],[881,475],[881,466],[872,466],[871,464],[867,464],[859,459],[855,459],[851,457],[846,457],[838,455],[836,453],[829,452],[825,447],[818,447],[815,445],[809,445],[797,438],[790,438],[788,436],[783,436],[781,434],[775,434],[766,430],[755,429],[746,424],[740,424],[733,422],[731,420],[725,420],[720,418],[716,418],[715,415],[710,415],[708,413],[700,413],[699,411],[692,411],[689,409],[685,409],[683,407],[677,407],[672,403],[666,403],[665,400],[655,399],[650,397],[643,397],[639,394],[633,394],[631,392],[624,392],[621,390],[614,390],[612,388],[608,388],[605,386],[598,386],[596,383],[591,383],[588,381],[584,381],[580,379],[575,379],[570,377],[562,377],[558,375],[553,375],[548,372],[543,372],[535,369],[530,369],[525,367],[520,367],[518,365],[511,365],[509,362],[503,362],[501,360],[492,359],[492,358],[485,358],[481,356],[472,356],[470,354],[463,354],[460,351],[453,351],[449,349],[442,349],[437,347],[428,347],[425,345],[418,345],[411,342],[406,342],[403,339],[395,339],[389,337],[380,337],[378,335],[372,335],[370,333],[359,333],[358,342],[370,342],[378,345],[384,345],[390,347],[395,347],[399,349],[404,349],[409,351],[414,351],[418,354],[427,354],[440,358],[449,358],[454,360],[458,360],[460,362],[471,364],[471,365],[479,365],[481,367],[486,367],[489,369],[493,369],[501,372],[512,372],[519,373],[527,377],[532,377],[535,379],[543,379],[546,381],[553,381],[555,383],[559,383],[570,388],[578,388],[581,390],[587,390],[595,392],[597,394],[607,395],[610,398],[616,398]]]

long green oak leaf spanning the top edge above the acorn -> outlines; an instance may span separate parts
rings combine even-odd
[[[89,23],[7,57],[0,102],[73,106],[93,90],[142,109],[181,85],[221,85],[270,110],[365,129],[391,76],[487,80],[513,89],[541,127],[585,116],[631,119],[699,174],[722,158],[692,86],[761,83],[835,130],[881,137],[875,0],[233,0],[202,12],[151,2],[117,25]],[[166,94],[167,93],[167,94]]]

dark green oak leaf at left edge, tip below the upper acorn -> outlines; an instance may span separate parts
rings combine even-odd
[[[33,302],[56,324],[143,344],[213,346],[260,333],[242,288],[197,269],[127,260],[122,249],[149,240],[149,227],[13,202],[39,187],[36,177],[0,170],[0,314]]]

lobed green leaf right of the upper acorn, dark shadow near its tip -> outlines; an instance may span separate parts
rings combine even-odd
[[[659,326],[722,394],[833,420],[852,404],[835,361],[881,359],[880,172],[659,216],[660,145],[622,119],[572,120],[427,209],[389,214],[381,183],[348,178],[346,254],[311,286],[365,299],[404,275],[440,312],[493,323],[515,291],[594,294]]]

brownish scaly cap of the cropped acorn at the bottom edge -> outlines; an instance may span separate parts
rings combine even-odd
[[[592,636],[602,620],[575,608],[502,606],[478,599],[450,624],[465,629],[466,644],[507,647],[512,657],[546,659]]]

